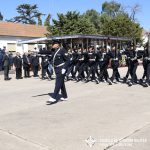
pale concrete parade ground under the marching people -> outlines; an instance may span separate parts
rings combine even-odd
[[[47,105],[54,81],[10,77],[0,75],[0,150],[149,150],[150,87],[68,81],[68,101]]]

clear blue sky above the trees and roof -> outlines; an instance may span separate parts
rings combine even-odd
[[[39,11],[52,15],[52,18],[57,18],[57,13],[66,13],[67,11],[85,12],[88,9],[95,9],[101,12],[102,3],[106,0],[0,0],[0,12],[5,19],[17,16],[16,7],[20,4],[37,4]],[[110,1],[110,0],[107,0]],[[121,3],[125,8],[140,5],[140,11],[137,13],[137,21],[141,26],[150,30],[150,0],[116,0]],[[42,19],[45,20],[46,17]]]

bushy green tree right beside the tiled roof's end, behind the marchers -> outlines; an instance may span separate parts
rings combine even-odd
[[[53,19],[53,35],[95,34],[94,25],[76,11],[57,14],[58,20]]]

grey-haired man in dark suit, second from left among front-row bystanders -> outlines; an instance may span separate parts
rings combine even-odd
[[[14,58],[14,66],[16,68],[16,79],[23,79],[22,78],[22,58],[20,53],[17,52]]]

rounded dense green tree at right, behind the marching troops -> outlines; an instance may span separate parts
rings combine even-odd
[[[104,35],[130,37],[139,40],[142,28],[125,15],[118,15],[103,23],[102,33]]]

